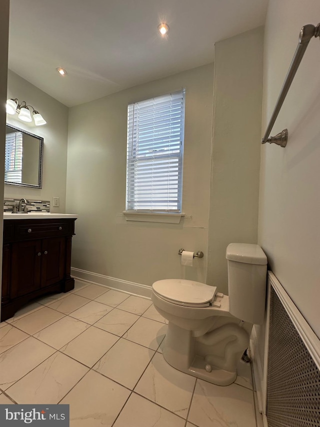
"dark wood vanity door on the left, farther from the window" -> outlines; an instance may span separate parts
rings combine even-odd
[[[39,289],[41,258],[41,240],[12,245],[10,298]]]

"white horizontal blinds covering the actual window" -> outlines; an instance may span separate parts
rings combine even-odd
[[[181,212],[184,90],[128,105],[126,210]]]

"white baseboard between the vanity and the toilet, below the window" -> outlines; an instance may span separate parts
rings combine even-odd
[[[75,279],[106,286],[111,289],[128,292],[144,298],[151,298],[151,286],[128,282],[127,280],[116,279],[115,277],[103,276],[102,274],[92,273],[91,271],[80,270],[74,267],[71,267],[71,276]]]

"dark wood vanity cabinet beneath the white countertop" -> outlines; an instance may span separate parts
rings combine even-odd
[[[75,218],[3,221],[1,321],[31,299],[74,288],[70,276]]]

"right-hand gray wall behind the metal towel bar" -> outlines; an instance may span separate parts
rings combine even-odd
[[[305,24],[320,3],[270,0],[265,26],[262,133]],[[320,338],[320,44],[312,38],[271,135],[289,132],[285,148],[261,150],[258,240],[271,270]],[[263,352],[261,350],[261,352]]]

